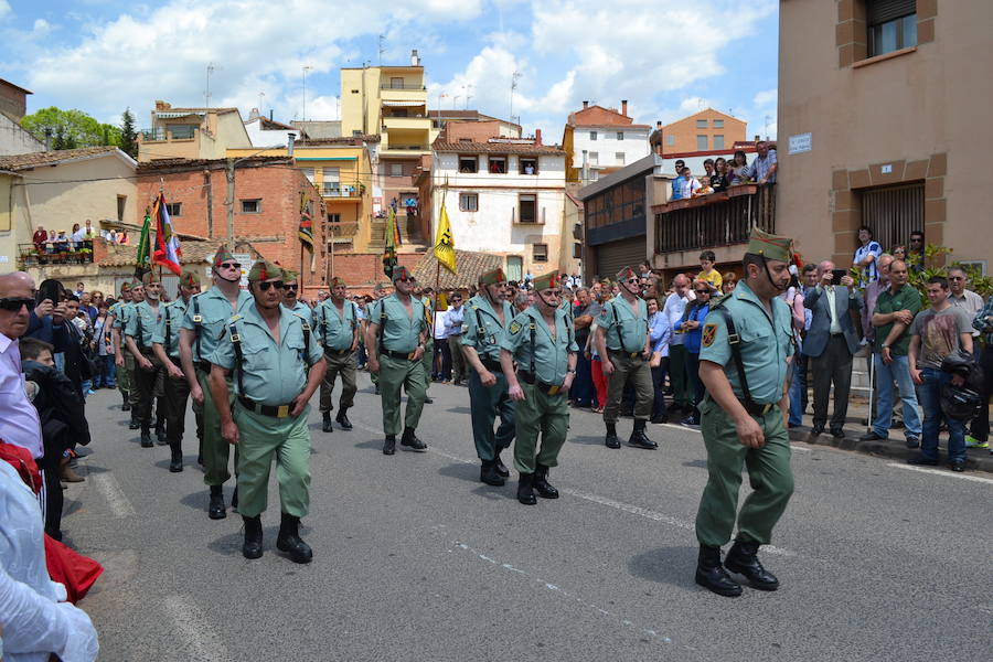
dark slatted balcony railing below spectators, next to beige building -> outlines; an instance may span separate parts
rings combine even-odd
[[[652,205],[655,253],[747,244],[752,227],[776,232],[776,184],[744,184],[668,204]]]

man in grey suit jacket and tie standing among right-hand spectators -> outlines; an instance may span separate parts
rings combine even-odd
[[[820,435],[828,421],[828,396],[834,384],[834,415],[831,435],[844,438],[842,427],[848,413],[852,386],[852,356],[858,351],[859,334],[850,311],[862,309],[862,293],[847,274],[841,285],[832,285],[834,263],[818,265],[818,285],[808,290],[803,306],[811,310],[810,330],[803,341],[803,353],[811,357],[814,373],[814,416],[811,433]]]

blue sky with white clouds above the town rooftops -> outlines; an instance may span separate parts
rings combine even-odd
[[[588,99],[640,124],[712,106],[776,135],[778,0],[0,0],[0,77],[29,111],[78,108],[148,125],[156,99],[338,117],[339,68],[420,53],[429,105],[477,108],[560,139]],[[444,96],[442,96],[444,95]]]

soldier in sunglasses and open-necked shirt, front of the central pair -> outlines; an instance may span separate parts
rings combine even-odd
[[[548,483],[548,469],[558,466],[558,451],[569,428],[568,391],[576,377],[579,351],[569,316],[559,308],[558,271],[535,278],[534,291],[534,305],[514,318],[500,343],[510,398],[517,403],[514,468],[521,473],[517,501],[524,505],[537,503],[535,490],[545,499],[558,499],[558,490]]]

